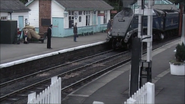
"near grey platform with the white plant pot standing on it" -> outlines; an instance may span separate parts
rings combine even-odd
[[[169,60],[180,40],[175,40],[152,52],[152,83],[155,104],[185,104],[185,76],[170,74]],[[143,56],[146,57],[146,56]],[[71,93],[63,104],[124,104],[129,98],[130,62],[108,72]]]

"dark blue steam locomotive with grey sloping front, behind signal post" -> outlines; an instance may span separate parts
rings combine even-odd
[[[177,35],[179,12],[174,10],[153,10],[153,40],[163,40]],[[132,38],[138,34],[138,15],[131,8],[123,8],[113,18],[109,42],[113,49],[129,48]],[[143,34],[147,34],[147,17],[143,16]]]

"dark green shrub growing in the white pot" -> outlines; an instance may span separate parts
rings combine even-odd
[[[175,53],[176,61],[184,62],[185,61],[185,45],[182,43],[181,45],[178,44],[176,47]]]

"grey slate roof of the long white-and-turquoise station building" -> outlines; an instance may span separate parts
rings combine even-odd
[[[56,0],[66,10],[111,10],[104,0]]]

